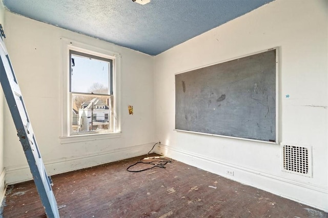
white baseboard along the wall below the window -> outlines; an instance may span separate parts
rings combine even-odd
[[[114,149],[107,152],[88,154],[75,157],[64,157],[44,161],[47,174],[56,175],[96,166],[104,163],[123,160],[147,154],[154,143],[141,144],[122,149]],[[16,165],[6,167],[6,184],[15,184],[32,180],[32,174],[28,165]],[[1,189],[0,189],[1,190]]]

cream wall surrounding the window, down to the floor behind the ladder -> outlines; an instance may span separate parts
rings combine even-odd
[[[48,174],[146,154],[154,142],[153,57],[6,12],[6,46]],[[121,54],[121,136],[61,143],[60,37]],[[128,105],[134,114],[129,115]],[[31,179],[8,106],[4,110],[6,182]]]

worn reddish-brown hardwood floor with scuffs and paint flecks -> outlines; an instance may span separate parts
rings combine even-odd
[[[328,217],[175,160],[127,172],[140,158],[52,176],[60,217]],[[139,167],[148,166],[130,169]],[[5,218],[46,217],[33,181],[9,185],[3,205]]]

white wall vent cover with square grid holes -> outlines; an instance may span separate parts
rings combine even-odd
[[[282,171],[312,177],[312,148],[281,144]]]

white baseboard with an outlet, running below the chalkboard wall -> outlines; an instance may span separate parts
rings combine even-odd
[[[222,177],[328,212],[328,190],[324,187],[300,183],[255,171],[254,169],[226,163],[199,154],[181,151],[163,144],[160,145],[160,150],[154,149],[154,151]],[[234,176],[227,174],[227,168],[234,172]]]

